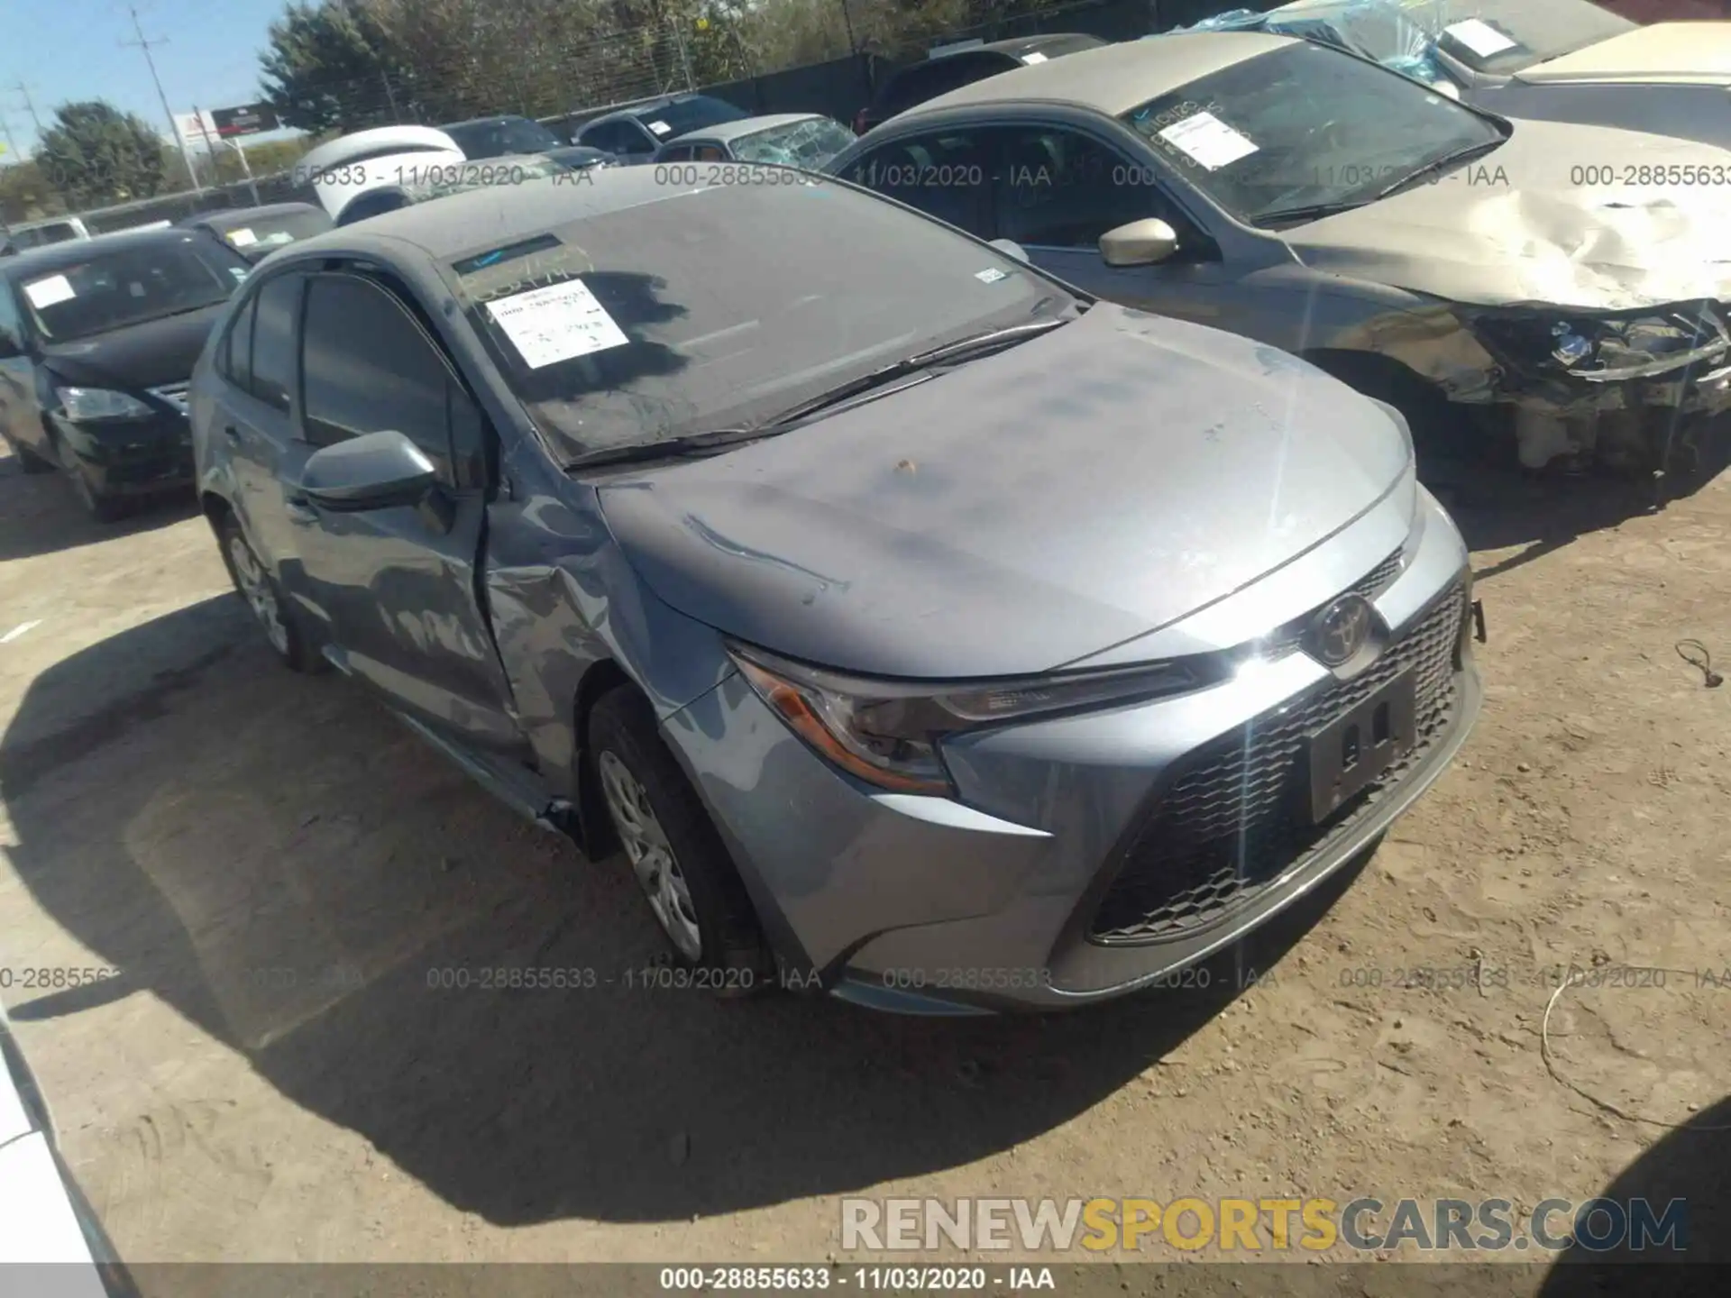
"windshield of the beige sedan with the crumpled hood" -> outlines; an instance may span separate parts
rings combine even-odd
[[[1367,202],[1503,130],[1445,95],[1326,45],[1286,45],[1123,114],[1186,180],[1255,225],[1288,208]]]

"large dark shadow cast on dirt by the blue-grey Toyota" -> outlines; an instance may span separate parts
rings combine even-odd
[[[1213,992],[990,1021],[627,985],[660,940],[623,869],[495,806],[351,684],[275,668],[227,595],[38,678],[0,794],[35,900],[121,971],[14,1019],[151,992],[497,1224],[689,1220],[961,1166],[1097,1104],[1243,981],[1222,962]],[[1357,869],[1222,959],[1271,967]],[[594,985],[476,985],[523,967]],[[126,1051],[156,1063],[182,1033],[147,1007],[121,1028],[154,1031]]]

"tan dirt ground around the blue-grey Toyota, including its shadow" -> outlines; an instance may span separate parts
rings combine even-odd
[[[277,670],[190,507],[99,528],[0,460],[0,997],[132,1262],[812,1262],[843,1194],[1606,1189],[1689,1198],[1695,1255],[1728,1258],[1731,1142],[1702,1127],[1731,1125],[1731,687],[1676,642],[1731,671],[1731,474],[1651,516],[1593,483],[1458,514],[1483,716],[1236,955],[1271,978],[917,1021],[431,990],[660,943],[616,862]],[[1683,973],[1565,992],[1553,1076],[1558,964]]]

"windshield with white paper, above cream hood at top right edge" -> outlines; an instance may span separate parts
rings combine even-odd
[[[1402,0],[1400,7],[1451,59],[1494,76],[1584,50],[1638,26],[1587,0]]]

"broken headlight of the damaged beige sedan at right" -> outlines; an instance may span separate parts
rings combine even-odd
[[[1461,317],[1509,369],[1561,369],[1587,382],[1667,374],[1731,350],[1731,331],[1705,301],[1617,315],[1522,308],[1463,310]]]

